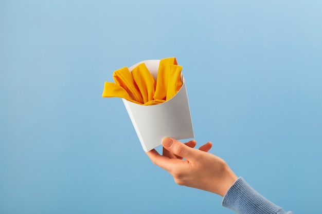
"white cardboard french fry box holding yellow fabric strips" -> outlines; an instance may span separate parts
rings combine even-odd
[[[131,66],[129,70],[132,71],[137,65],[145,63],[156,80],[159,62],[159,60],[142,61]],[[162,145],[162,140],[167,137],[177,140],[194,138],[183,75],[182,81],[180,91],[162,104],[144,106],[122,99],[146,152]]]

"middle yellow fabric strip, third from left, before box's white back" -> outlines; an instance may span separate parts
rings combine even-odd
[[[152,101],[156,83],[146,64],[142,63],[136,66],[131,73],[133,80],[141,93],[143,103],[145,104]]]

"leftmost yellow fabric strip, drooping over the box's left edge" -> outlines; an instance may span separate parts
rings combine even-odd
[[[124,98],[133,103],[140,104],[139,102],[133,100],[124,88],[115,83],[105,82],[102,96],[104,98]]]

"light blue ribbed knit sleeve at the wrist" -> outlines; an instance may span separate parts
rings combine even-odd
[[[265,199],[239,178],[226,192],[222,205],[239,214],[291,214]]]

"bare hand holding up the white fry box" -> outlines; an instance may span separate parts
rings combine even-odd
[[[211,142],[193,148],[195,141],[185,144],[172,138],[163,140],[163,155],[155,149],[147,152],[151,161],[172,174],[175,183],[224,196],[238,179],[224,160],[208,153]]]

